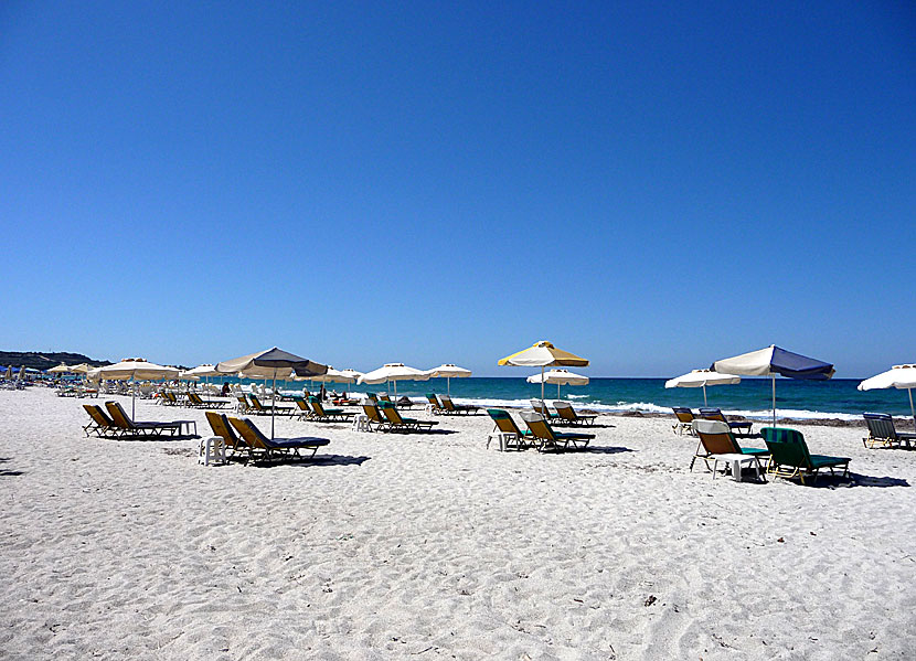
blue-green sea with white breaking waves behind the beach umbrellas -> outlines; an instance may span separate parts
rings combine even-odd
[[[562,386],[560,398],[578,407],[596,411],[671,413],[672,406],[703,406],[702,388],[665,388],[664,379],[592,379],[585,386]],[[890,413],[909,416],[909,398],[906,391],[886,390],[860,392],[860,380],[833,379],[830,381],[776,380],[776,407],[780,417],[860,419],[864,412]],[[309,382],[278,382],[278,390],[301,393]],[[317,390],[313,384],[310,390]],[[426,393],[445,393],[445,379],[425,382],[402,381],[397,394],[422,398]],[[541,396],[541,386],[528,383],[524,377],[470,377],[452,379],[451,396],[456,402],[481,406],[528,406],[529,399]],[[744,379],[736,385],[717,385],[706,388],[710,406],[726,413],[749,418],[766,419],[770,415],[771,391],[769,379]],[[330,384],[328,390],[349,393],[390,392],[386,385],[359,386]],[[556,399],[555,385],[544,386],[546,399]]]

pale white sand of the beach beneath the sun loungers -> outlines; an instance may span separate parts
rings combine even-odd
[[[0,392],[3,659],[916,658],[916,452],[856,429],[799,427],[850,488],[713,481],[609,416],[564,455],[281,420],[323,460],[206,468],[86,439],[81,403]]]

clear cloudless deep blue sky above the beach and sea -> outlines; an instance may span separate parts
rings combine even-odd
[[[916,361],[914,6],[681,4],[3,3],[0,349]]]

